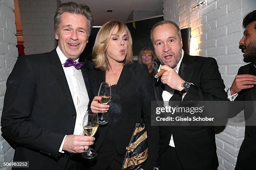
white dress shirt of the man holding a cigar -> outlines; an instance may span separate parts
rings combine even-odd
[[[184,55],[184,51],[182,49],[182,57],[179,60],[179,63],[177,64],[177,67],[176,67],[177,74],[179,73],[179,66],[180,66],[180,63],[182,62],[183,55]],[[161,67],[161,65],[160,65],[160,67]],[[160,67],[158,69],[158,72],[160,71]],[[174,94],[174,89],[172,89],[168,85],[164,86],[164,91],[162,93],[162,97],[163,97],[163,100],[164,100],[164,106],[169,106],[169,100],[173,96],[173,94]],[[184,97],[184,95],[182,95],[182,99],[183,99],[183,97]],[[175,148],[173,137],[171,137],[169,145]]]

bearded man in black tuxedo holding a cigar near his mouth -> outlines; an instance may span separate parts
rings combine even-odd
[[[227,100],[225,85],[215,59],[190,56],[182,50],[179,26],[160,21],[151,30],[151,41],[166,70],[161,80],[154,79],[156,100],[222,101]],[[160,126],[161,170],[216,170],[213,126]]]

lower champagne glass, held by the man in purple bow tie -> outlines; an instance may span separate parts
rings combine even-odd
[[[84,115],[83,128],[87,136],[93,137],[99,128],[98,114],[88,110]],[[97,152],[91,149],[90,146],[86,152],[82,153],[82,157],[88,159],[95,158],[96,155]]]

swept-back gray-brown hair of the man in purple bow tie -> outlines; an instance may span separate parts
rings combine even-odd
[[[87,5],[77,4],[75,2],[62,3],[57,8],[54,16],[54,32],[55,33],[58,33],[60,18],[61,18],[61,15],[65,12],[84,15],[87,18],[88,36],[90,36],[92,27],[93,27],[93,20],[94,20],[93,14]]]

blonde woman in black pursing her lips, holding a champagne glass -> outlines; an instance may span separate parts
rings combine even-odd
[[[99,30],[92,49],[96,70],[89,72],[92,93],[92,112],[106,112],[108,124],[96,133],[96,163],[91,170],[120,170],[136,122],[141,114],[147,126],[148,158],[143,170],[152,170],[158,159],[159,135],[151,127],[151,101],[155,100],[153,85],[147,67],[132,64],[132,38],[125,23],[111,20]],[[111,86],[109,105],[99,103],[101,82]],[[154,130],[154,132],[153,132]]]

